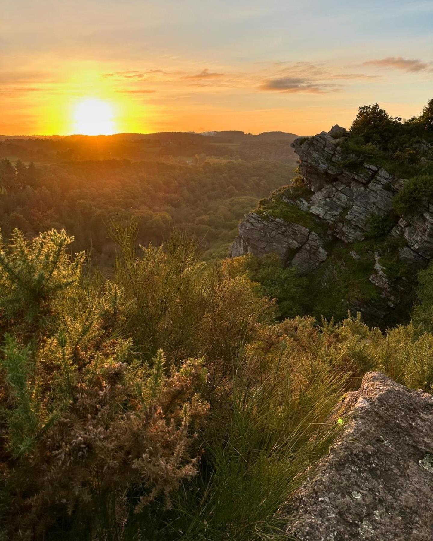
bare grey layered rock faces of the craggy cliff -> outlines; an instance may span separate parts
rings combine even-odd
[[[433,256],[433,206],[411,222],[401,219],[394,225],[392,200],[406,181],[363,161],[348,150],[349,140],[350,134],[339,126],[294,140],[303,186],[277,190],[246,215],[230,255],[275,252],[284,266],[308,274],[329,262],[333,246],[363,242],[390,223],[383,235],[394,241],[392,257],[402,265],[415,266],[409,274],[416,275]],[[350,253],[358,257],[356,250]],[[404,283],[397,285],[388,276],[382,255],[371,250],[371,272],[366,278],[378,288],[382,307],[367,307],[362,299],[347,303],[362,312],[372,309],[378,318],[399,303],[405,289]]]

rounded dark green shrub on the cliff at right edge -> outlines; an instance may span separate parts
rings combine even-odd
[[[392,203],[397,214],[410,219],[428,209],[432,196],[433,175],[418,175],[405,183]]]

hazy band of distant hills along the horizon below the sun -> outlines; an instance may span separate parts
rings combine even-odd
[[[283,131],[253,135],[244,131],[204,134],[161,131],[152,134],[12,136],[0,135],[0,159],[63,162],[88,160],[204,161],[268,160],[294,163],[290,144],[297,136]]]

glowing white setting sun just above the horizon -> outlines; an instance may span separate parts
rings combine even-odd
[[[76,134],[111,135],[116,132],[113,107],[102,100],[84,100],[78,103],[74,119]]]

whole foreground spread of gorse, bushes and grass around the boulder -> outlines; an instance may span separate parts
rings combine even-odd
[[[136,247],[134,223],[111,236],[109,277],[63,231],[1,247],[4,538],[283,538],[342,392],[369,370],[432,390],[430,270],[414,325],[279,323],[263,263],[204,265],[180,233]]]

